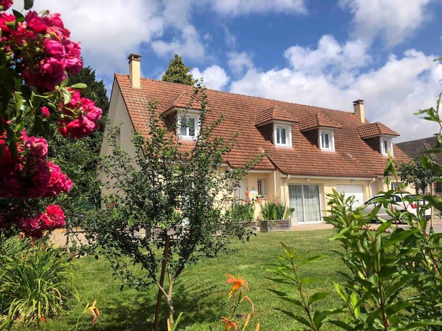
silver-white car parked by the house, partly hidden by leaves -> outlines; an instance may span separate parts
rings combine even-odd
[[[373,198],[369,199],[368,201],[366,201],[364,203],[365,207],[365,212],[367,214],[370,214],[373,209],[376,207],[376,205],[378,204],[376,202],[375,199],[377,198],[381,198],[383,197],[384,194],[377,194],[375,195]],[[411,201],[411,203],[409,203],[408,201],[402,201],[403,197],[410,197],[413,199],[413,201]],[[423,206],[426,204],[426,202],[424,200],[417,200],[416,196],[414,194],[411,193],[396,193],[392,195],[392,200],[397,202],[398,205],[391,205],[388,206],[387,208],[393,207],[395,209],[399,209],[399,211],[403,212],[403,211],[408,211],[410,213],[416,214],[417,212],[417,208],[418,206]],[[408,199],[407,199],[408,200]],[[384,219],[384,220],[390,220],[392,219],[392,217],[387,213],[386,208],[382,205],[377,213],[377,216]],[[431,217],[431,208],[428,208],[425,210],[425,218],[429,219]],[[399,220],[400,221],[400,220]]]

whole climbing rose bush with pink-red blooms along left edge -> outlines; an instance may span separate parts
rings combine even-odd
[[[56,196],[73,183],[38,135],[55,121],[64,137],[83,138],[99,128],[102,111],[82,97],[85,84],[66,86],[83,66],[80,43],[70,40],[60,14],[32,11],[32,2],[24,1],[27,13],[8,14],[13,0],[0,0],[0,199],[17,199],[2,208],[0,229],[40,237],[65,224],[64,212],[59,205],[42,212],[26,200]],[[25,123],[33,123],[33,135]]]

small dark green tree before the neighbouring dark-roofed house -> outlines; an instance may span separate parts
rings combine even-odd
[[[402,181],[413,184],[416,190],[421,189],[423,194],[428,185],[432,185],[439,178],[438,173],[424,167],[420,160],[401,163],[399,171]]]

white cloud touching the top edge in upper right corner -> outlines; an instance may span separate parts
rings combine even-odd
[[[340,0],[354,15],[354,35],[368,41],[377,36],[387,47],[403,42],[426,19],[432,0]]]

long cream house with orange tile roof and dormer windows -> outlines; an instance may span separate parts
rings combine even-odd
[[[109,108],[111,124],[120,128],[118,143],[129,153],[131,130],[147,133],[147,102],[156,99],[158,111],[178,121],[182,141],[197,131],[198,109],[180,113],[193,87],[140,77],[141,56],[129,57],[129,75],[115,74]],[[357,204],[386,190],[383,171],[391,153],[408,160],[392,139],[398,133],[381,123],[365,119],[364,102],[353,102],[354,112],[330,110],[278,100],[207,90],[210,118],[224,114],[214,134],[231,137],[240,131],[221,171],[241,167],[262,151],[266,157],[238,183],[235,194],[251,194],[286,201],[295,207],[298,223],[321,222],[326,215],[327,194],[333,189],[355,195]],[[196,107],[197,108],[197,107]],[[181,128],[181,129],[180,129]],[[110,153],[103,141],[101,154]]]

